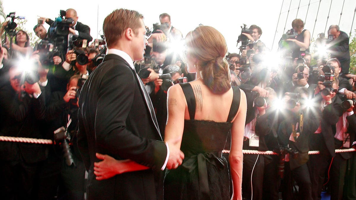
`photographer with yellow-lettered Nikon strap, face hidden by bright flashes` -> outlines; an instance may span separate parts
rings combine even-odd
[[[293,199],[295,180],[299,186],[298,199],[304,200],[312,199],[312,183],[307,166],[309,135],[318,129],[320,120],[308,108],[308,89],[298,87],[295,92],[286,95],[286,118],[280,123],[277,132],[279,144],[293,150],[293,154],[286,154],[282,196],[283,199]]]

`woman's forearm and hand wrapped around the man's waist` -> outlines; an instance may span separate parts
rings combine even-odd
[[[100,153],[96,153],[96,157],[103,160],[98,163],[94,163],[94,174],[96,175],[96,180],[108,179],[117,174],[126,172],[135,172],[149,169],[145,165],[140,165],[130,159],[116,160],[111,156],[103,155]]]

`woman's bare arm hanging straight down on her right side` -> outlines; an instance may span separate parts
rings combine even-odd
[[[247,112],[247,101],[244,91],[241,91],[240,108],[237,111],[235,120],[231,128],[231,150],[229,155],[231,177],[233,185],[232,199],[242,199],[242,143],[244,140],[244,130]]]

